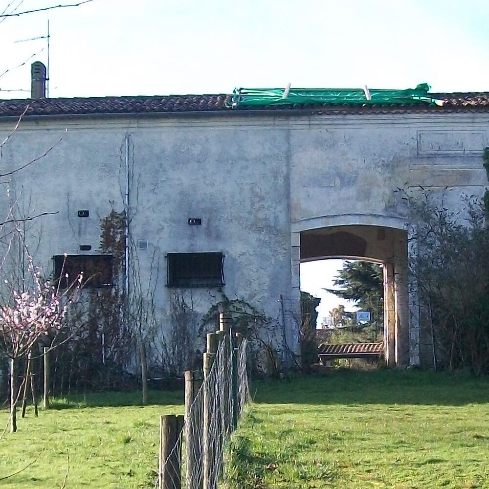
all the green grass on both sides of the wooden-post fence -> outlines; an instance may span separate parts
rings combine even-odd
[[[338,370],[255,382],[232,441],[228,487],[489,488],[489,382]],[[2,488],[153,488],[161,414],[181,392],[93,394],[19,419],[0,442]],[[6,411],[0,422],[7,422]]]

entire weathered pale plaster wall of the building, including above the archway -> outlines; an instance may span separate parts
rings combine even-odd
[[[2,134],[12,125],[2,122]],[[47,156],[12,176],[14,194],[33,212],[58,211],[32,227],[42,227],[38,256],[48,266],[79,244],[95,251],[99,219],[122,210],[128,137],[131,232],[149,244],[138,252],[143,282],[160,253],[162,322],[171,251],[222,251],[223,292],[280,319],[280,294],[298,307],[301,232],[350,224],[406,230],[396,187],[423,185],[458,209],[463,192],[483,192],[488,127],[485,114],[443,113],[25,119],[2,165],[41,155],[68,128]],[[90,217],[78,219],[78,209]],[[202,226],[189,226],[189,217]],[[193,293],[202,312],[220,299],[215,289]],[[292,321],[288,328],[293,343]]]

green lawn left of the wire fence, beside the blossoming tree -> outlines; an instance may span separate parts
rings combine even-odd
[[[18,432],[0,442],[0,481],[7,488],[60,488],[70,470],[67,489],[153,488],[156,481],[159,416],[183,413],[182,392],[150,392],[150,404],[139,406],[139,393],[91,394],[53,403],[54,409],[32,407],[18,414]],[[0,426],[8,420],[0,411]],[[37,460],[36,460],[37,459]]]

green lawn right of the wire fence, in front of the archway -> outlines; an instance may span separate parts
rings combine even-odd
[[[488,381],[338,370],[251,393],[230,488],[489,488]]]

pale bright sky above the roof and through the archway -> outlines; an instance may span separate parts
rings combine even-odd
[[[0,0],[0,10],[10,0]],[[17,0],[19,1],[19,0]],[[66,0],[69,3],[70,0]],[[41,8],[58,0],[24,0]],[[23,98],[30,63],[46,63],[50,96],[221,93],[234,87],[489,91],[487,0],[94,0],[0,23],[0,98]],[[25,66],[15,68],[32,54]],[[341,262],[303,264],[303,288],[322,287]]]

